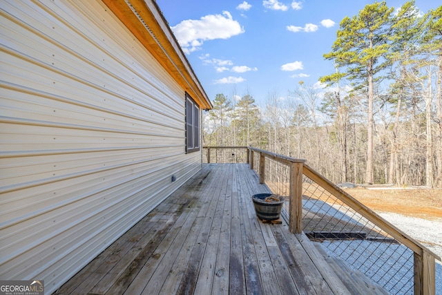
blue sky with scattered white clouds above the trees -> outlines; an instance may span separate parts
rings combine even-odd
[[[416,0],[422,12],[437,1]],[[314,86],[334,71],[323,58],[340,21],[365,0],[157,0],[211,100],[250,94],[258,105],[285,97],[302,80]],[[401,0],[388,0],[399,8]],[[440,5],[440,4],[439,4]]]

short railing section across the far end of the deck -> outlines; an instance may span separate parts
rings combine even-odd
[[[211,163],[247,163],[247,149],[243,148],[223,148],[223,149],[204,149],[202,153],[202,162]]]

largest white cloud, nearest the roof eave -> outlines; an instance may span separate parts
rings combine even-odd
[[[184,53],[199,50],[203,41],[229,39],[244,32],[238,21],[232,19],[230,12],[222,15],[206,15],[201,19],[187,19],[171,27]]]

